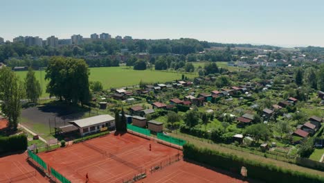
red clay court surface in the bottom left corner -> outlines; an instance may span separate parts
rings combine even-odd
[[[1,157],[0,182],[49,182],[48,178],[39,174],[26,159],[26,153]]]

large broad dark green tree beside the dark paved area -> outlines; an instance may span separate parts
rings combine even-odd
[[[82,59],[53,57],[46,69],[46,92],[66,102],[82,105],[90,100],[89,69]]]

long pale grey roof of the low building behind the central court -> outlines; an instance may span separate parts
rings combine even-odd
[[[103,115],[99,115],[99,116],[89,117],[86,119],[70,121],[69,123],[71,123],[72,125],[76,125],[79,128],[84,128],[87,126],[97,125],[100,123],[105,123],[107,121],[113,121],[113,120],[115,120],[113,116],[110,116],[109,114],[103,114]]]

